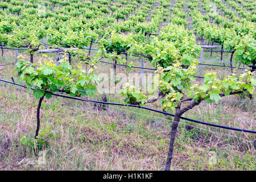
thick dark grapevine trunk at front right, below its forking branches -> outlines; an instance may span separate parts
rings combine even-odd
[[[166,160],[166,168],[164,169],[165,171],[170,171],[172,155],[174,152],[174,140],[177,133],[177,127],[180,122],[180,116],[181,116],[180,104],[178,104],[175,111],[174,122],[172,122],[171,139],[170,139],[170,146],[169,146],[169,151],[168,151],[167,160]]]

